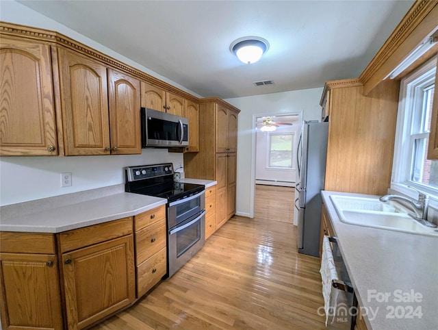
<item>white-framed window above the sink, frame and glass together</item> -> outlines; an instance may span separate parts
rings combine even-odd
[[[402,79],[391,188],[416,198],[407,186],[438,197],[438,161],[427,159],[437,59]]]

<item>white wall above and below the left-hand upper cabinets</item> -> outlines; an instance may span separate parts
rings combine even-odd
[[[50,5],[50,3],[48,2],[47,5]],[[166,77],[157,75],[157,73],[148,68],[15,1],[1,1],[0,20],[58,31],[145,73],[166,81],[172,86],[200,97],[200,95],[166,79]],[[173,162],[175,166],[179,166],[179,164],[183,164],[183,155],[182,153],[168,153],[166,149],[144,149],[142,155],[1,157],[0,205],[9,205],[32,199],[41,199],[124,183],[124,166],[157,164],[160,162]],[[60,173],[62,172],[73,173],[73,186],[60,188]]]

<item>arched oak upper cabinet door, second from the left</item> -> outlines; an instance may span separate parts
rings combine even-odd
[[[66,155],[110,154],[107,69],[65,49],[59,54]]]

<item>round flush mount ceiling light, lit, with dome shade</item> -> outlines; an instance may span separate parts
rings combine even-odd
[[[245,64],[260,60],[261,55],[269,49],[269,42],[259,37],[244,37],[231,42],[230,51]]]

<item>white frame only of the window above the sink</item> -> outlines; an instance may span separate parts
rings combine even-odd
[[[422,101],[422,96],[420,95],[417,95],[415,98],[413,97],[415,90],[434,84],[436,70],[437,57],[435,56],[400,81],[396,140],[394,142],[394,159],[391,174],[391,190],[396,190],[412,199],[417,199],[418,193],[409,187],[421,190],[430,196],[430,205],[433,207],[438,207],[438,188],[432,188],[426,184],[411,181],[411,164],[414,152],[412,144],[415,142],[415,138],[425,138],[430,134],[428,131],[412,133],[413,120],[417,120],[417,125],[420,124],[422,127],[424,125],[422,125],[422,118],[419,118],[419,116],[415,118],[411,109],[415,103]],[[426,74],[430,74],[430,77],[421,79]],[[417,81],[415,86],[408,87],[409,84],[413,84],[415,81]],[[435,86],[435,92],[437,92],[437,86]]]

